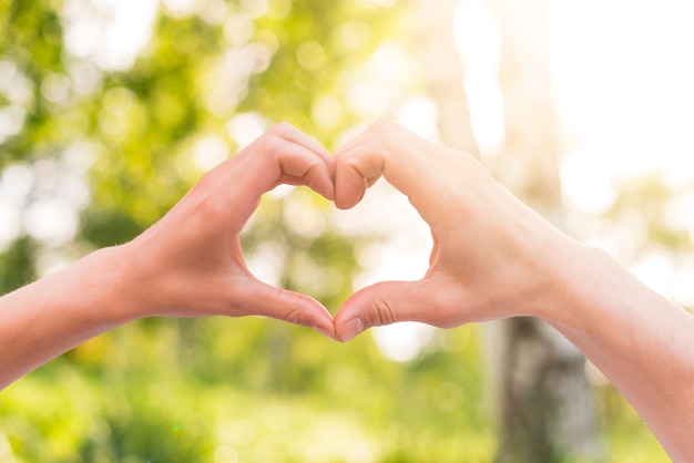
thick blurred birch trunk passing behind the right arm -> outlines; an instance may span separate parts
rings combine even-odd
[[[548,0],[493,0],[501,25],[506,142],[494,175],[561,226],[559,141],[549,73]],[[501,322],[497,462],[600,457],[583,356],[538,319]]]

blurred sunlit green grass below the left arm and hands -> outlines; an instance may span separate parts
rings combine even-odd
[[[130,326],[8,388],[0,430],[28,462],[489,461],[477,331],[438,342],[405,366],[259,319]]]

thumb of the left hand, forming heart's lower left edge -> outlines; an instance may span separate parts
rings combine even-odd
[[[258,315],[313,327],[323,335],[336,339],[330,312],[309,296],[277,288],[257,279],[239,288],[237,296],[238,300],[253,301],[252,307],[243,308],[244,315]]]

